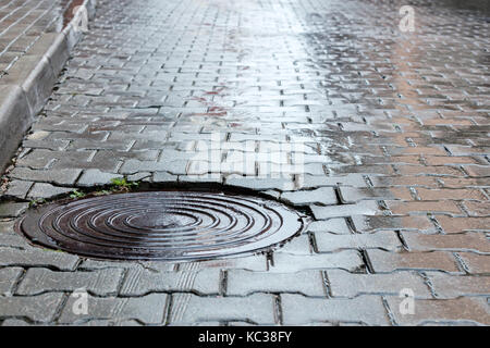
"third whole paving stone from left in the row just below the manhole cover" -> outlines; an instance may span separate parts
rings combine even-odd
[[[243,270],[228,272],[226,295],[247,296],[254,293],[298,293],[326,296],[320,271],[297,273],[265,273]]]

